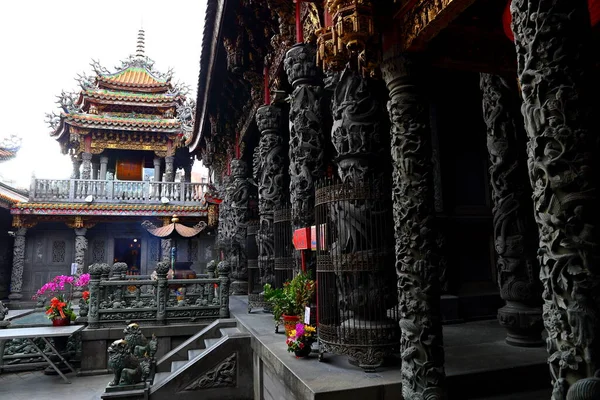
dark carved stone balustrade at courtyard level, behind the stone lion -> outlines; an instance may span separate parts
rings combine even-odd
[[[106,279],[96,269],[90,269],[90,329],[127,321],[166,325],[229,317],[228,274],[167,279],[165,271],[156,280]]]

